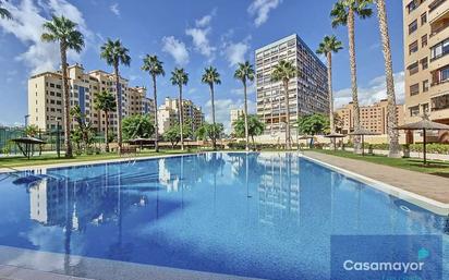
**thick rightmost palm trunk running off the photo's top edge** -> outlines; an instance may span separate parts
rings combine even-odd
[[[387,11],[385,8],[385,0],[376,0],[377,14],[379,19],[379,29],[380,37],[383,41],[384,59],[385,59],[385,76],[387,82],[387,111],[388,111],[388,141],[389,141],[389,153],[388,156],[392,158],[401,157],[400,146],[399,146],[399,134],[398,130],[398,118],[396,117],[396,94],[395,94],[395,81],[392,74],[392,61],[391,61],[391,48],[390,48],[390,36],[388,34],[388,21]]]

